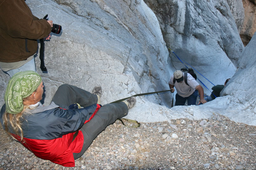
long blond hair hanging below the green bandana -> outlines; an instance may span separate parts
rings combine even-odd
[[[29,96],[27,98],[29,98]],[[23,101],[27,100],[27,98],[24,98]],[[24,136],[23,136],[23,129],[21,128],[21,126],[22,126],[22,122],[27,121],[22,116],[23,116],[24,112],[28,113],[26,111],[26,109],[28,109],[28,108],[30,108],[30,107],[24,105],[23,110],[21,112],[17,113],[17,114],[11,114],[11,113],[8,113],[6,111],[3,114],[4,130],[13,139],[15,139],[16,141],[22,142],[22,143],[24,143],[25,140],[24,140]],[[10,125],[10,126],[8,126],[8,125]],[[17,140],[13,135],[11,135],[10,131],[8,130],[8,127],[10,127],[13,130],[14,135],[18,135],[20,137],[20,140]]]

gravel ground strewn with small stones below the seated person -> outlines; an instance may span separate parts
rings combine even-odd
[[[0,170],[256,169],[256,127],[223,116],[141,123],[120,121],[93,141],[76,167],[34,156],[0,129]]]

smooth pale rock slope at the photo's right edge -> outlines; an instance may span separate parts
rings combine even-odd
[[[244,110],[247,114],[254,115],[256,114],[255,43],[256,34],[243,50],[237,72],[221,92],[222,96],[232,96],[230,102],[239,105],[236,107],[237,110]],[[232,107],[229,109],[234,110]]]

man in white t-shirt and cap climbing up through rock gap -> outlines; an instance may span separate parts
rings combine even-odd
[[[186,85],[185,83],[184,73],[182,71],[176,70],[171,76],[169,81],[169,87],[171,89],[171,92],[173,93],[175,91],[174,87],[177,90],[177,94],[175,96],[175,106],[183,106],[186,100],[188,101],[188,105],[195,105],[198,93],[200,95],[199,104],[206,103],[204,99],[204,89],[189,73],[187,73],[187,84],[188,85]]]

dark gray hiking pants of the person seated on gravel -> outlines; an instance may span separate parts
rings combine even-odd
[[[52,101],[61,108],[69,109],[69,105],[78,103],[82,107],[96,104],[98,97],[88,91],[72,85],[61,85],[52,98]],[[95,116],[80,129],[84,135],[84,145],[80,153],[73,153],[74,159],[81,157],[91,142],[108,125],[114,123],[117,119],[126,116],[128,107],[124,102],[105,104],[100,107]]]

